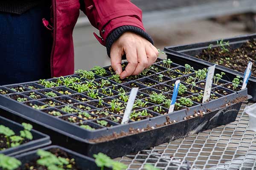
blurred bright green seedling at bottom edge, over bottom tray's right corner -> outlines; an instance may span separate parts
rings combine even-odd
[[[110,157],[103,153],[94,154],[95,163],[101,170],[104,170],[104,167],[113,168],[113,170],[125,170],[127,166],[118,161],[113,161]]]

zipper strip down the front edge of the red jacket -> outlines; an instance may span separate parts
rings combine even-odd
[[[55,43],[56,43],[56,0],[52,0],[52,11],[53,11],[53,42],[52,42],[52,53],[51,53],[51,59],[50,59],[50,66],[51,66],[51,76],[54,76],[53,73],[53,55],[54,55],[54,50],[55,50]]]

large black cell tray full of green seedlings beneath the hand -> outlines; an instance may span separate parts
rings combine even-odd
[[[54,144],[60,144],[88,156],[102,152],[111,157],[118,157],[233,122],[241,102],[250,98],[247,89],[240,90],[238,87],[233,91],[225,86],[230,81],[220,80],[218,85],[212,85],[211,94],[215,94],[215,98],[203,104],[201,101],[187,102],[192,96],[204,91],[204,88],[199,86],[195,86],[192,91],[191,84],[183,79],[183,77],[195,77],[195,70],[187,70],[174,62],[166,68],[163,60],[158,59],[158,61],[153,68],[145,70],[146,74],[140,78],[126,79],[127,82],[121,83],[108,80],[111,72],[107,72],[103,77],[98,76],[94,80],[79,78],[79,74],[67,76],[81,80],[67,87],[63,83],[57,84],[60,82],[58,78],[44,80],[44,83],[42,80],[35,81],[35,84],[45,84],[47,88],[27,89],[21,93],[13,93],[11,90],[13,87],[21,86],[20,84],[6,85],[4,89],[12,93],[0,94],[0,108],[10,112],[4,114],[9,119],[18,122],[26,120],[38,130],[49,134]],[[159,76],[167,71],[169,74],[164,75],[167,81],[152,79],[152,76]],[[172,85],[177,79],[180,79],[183,88],[187,90],[184,95],[177,96],[176,102],[180,103],[180,106],[175,108],[174,112],[168,113],[167,99],[171,99]],[[100,85],[102,80],[108,80],[111,84]],[[205,80],[196,80],[196,82],[204,85]],[[77,85],[81,85],[80,90],[76,88]],[[89,90],[88,85],[90,85]],[[82,86],[86,88],[83,89]],[[133,87],[139,88],[136,107],[131,112],[129,122],[121,125],[128,95]],[[112,96],[103,92],[106,88],[111,89]],[[227,94],[223,93],[224,91]],[[44,95],[46,98],[30,99],[23,95],[29,92]],[[89,97],[97,92],[102,98]],[[157,96],[152,98],[150,95],[155,93]],[[27,97],[27,101],[17,102],[15,100],[17,96],[13,99],[9,97],[13,95]],[[55,104],[52,104],[54,102]]]

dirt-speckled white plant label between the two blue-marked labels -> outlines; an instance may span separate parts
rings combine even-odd
[[[214,76],[215,66],[216,65],[212,65],[211,67],[208,67],[206,83],[205,83],[205,88],[204,88],[203,103],[207,102],[211,96],[212,80],[213,80],[213,76]]]

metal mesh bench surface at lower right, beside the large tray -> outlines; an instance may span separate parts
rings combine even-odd
[[[119,158],[127,170],[254,170],[256,133],[249,130],[243,103],[235,122]]]

